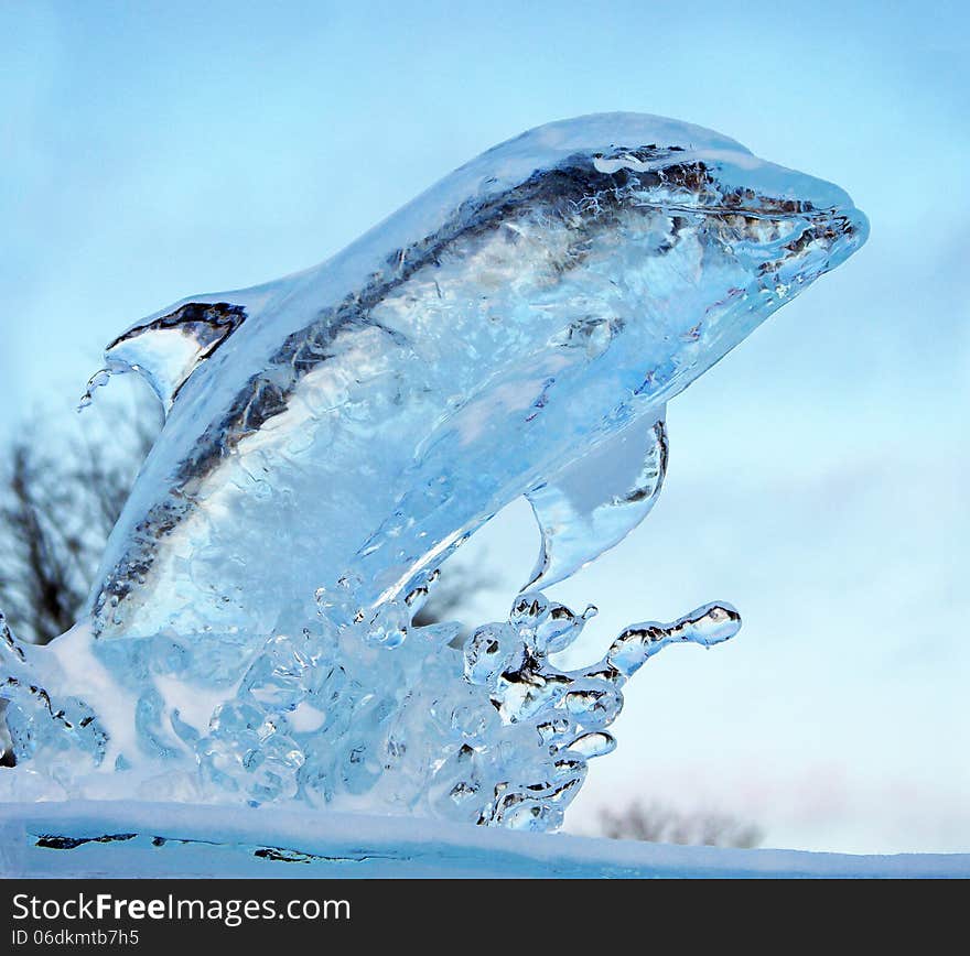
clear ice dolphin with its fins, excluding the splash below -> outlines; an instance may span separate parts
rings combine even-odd
[[[95,635],[266,635],[314,593],[377,620],[520,495],[529,585],[561,580],[649,511],[666,402],[866,235],[840,188],[734,140],[597,115],[483,153],[322,265],[137,323],[106,371],[168,415]]]

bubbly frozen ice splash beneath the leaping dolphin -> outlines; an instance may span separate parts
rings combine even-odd
[[[740,627],[733,608],[708,605],[671,624],[629,627],[595,664],[562,671],[550,655],[576,640],[592,607],[575,615],[524,594],[506,621],[455,649],[457,624],[410,624],[419,604],[388,606],[377,628],[334,627],[322,610],[252,658],[159,635],[126,653],[122,671],[111,660],[118,644],[101,643],[96,658],[122,675],[104,715],[52,697],[37,684],[36,649],[0,622],[17,662],[3,694],[18,761],[0,776],[0,799],[299,801],[554,828],[588,761],[615,747],[607,728],[627,680],[668,644],[711,647]],[[388,641],[398,629],[407,640]],[[214,686],[200,698],[206,672]]]

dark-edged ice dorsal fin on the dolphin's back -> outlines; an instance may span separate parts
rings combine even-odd
[[[137,371],[164,405],[246,318],[241,305],[188,302],[173,312],[133,325],[105,349],[108,369]]]

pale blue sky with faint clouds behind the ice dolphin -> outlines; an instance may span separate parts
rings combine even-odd
[[[775,845],[968,850],[968,26],[958,3],[4,3],[0,435],[72,414],[136,318],[311,265],[524,129],[712,127],[843,186],[872,237],[672,403],[654,514],[558,589],[601,607],[590,653],[715,598],[745,619],[638,676],[571,825],[640,794]],[[516,569],[483,613],[531,565],[517,508],[474,545]]]

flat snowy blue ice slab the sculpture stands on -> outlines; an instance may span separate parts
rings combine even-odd
[[[330,811],[77,802],[0,805],[0,876],[966,878],[970,856],[736,850]]]

